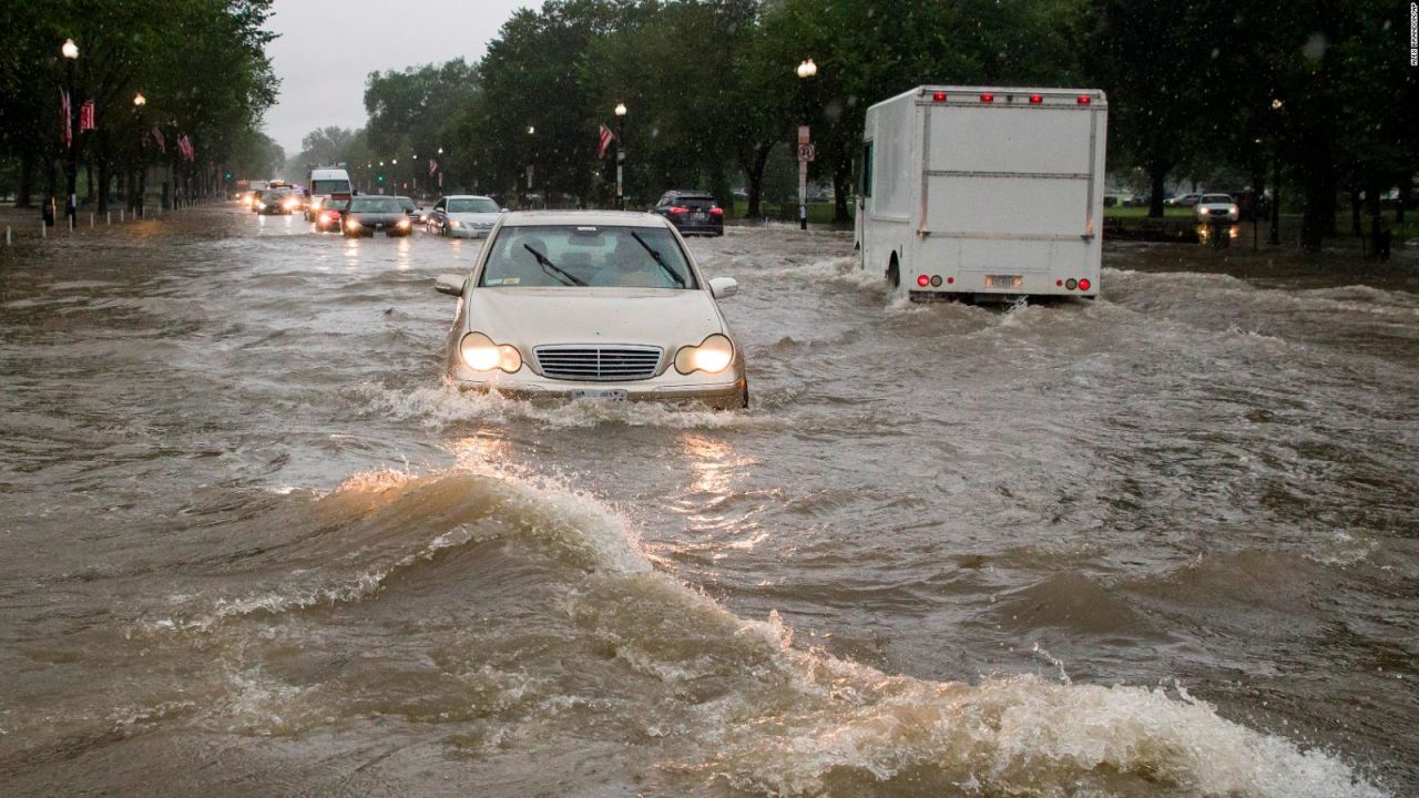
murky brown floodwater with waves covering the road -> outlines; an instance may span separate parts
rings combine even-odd
[[[1419,791],[1413,258],[692,250],[745,413],[446,389],[475,243],[0,251],[0,792]]]

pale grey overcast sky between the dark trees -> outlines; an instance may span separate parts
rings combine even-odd
[[[281,97],[265,114],[265,132],[301,152],[315,128],[365,125],[365,75],[482,57],[518,0],[277,0],[267,28],[281,34],[267,51]]]

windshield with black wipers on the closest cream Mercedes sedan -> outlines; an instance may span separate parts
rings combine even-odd
[[[478,285],[698,288],[674,236],[656,227],[504,227]]]

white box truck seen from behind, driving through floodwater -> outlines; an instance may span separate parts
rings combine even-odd
[[[920,87],[867,109],[857,247],[914,301],[1097,297],[1097,89]]]

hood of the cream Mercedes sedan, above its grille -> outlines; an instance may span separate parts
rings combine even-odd
[[[531,355],[548,344],[634,344],[670,354],[725,332],[708,291],[670,288],[474,288],[467,329]]]

